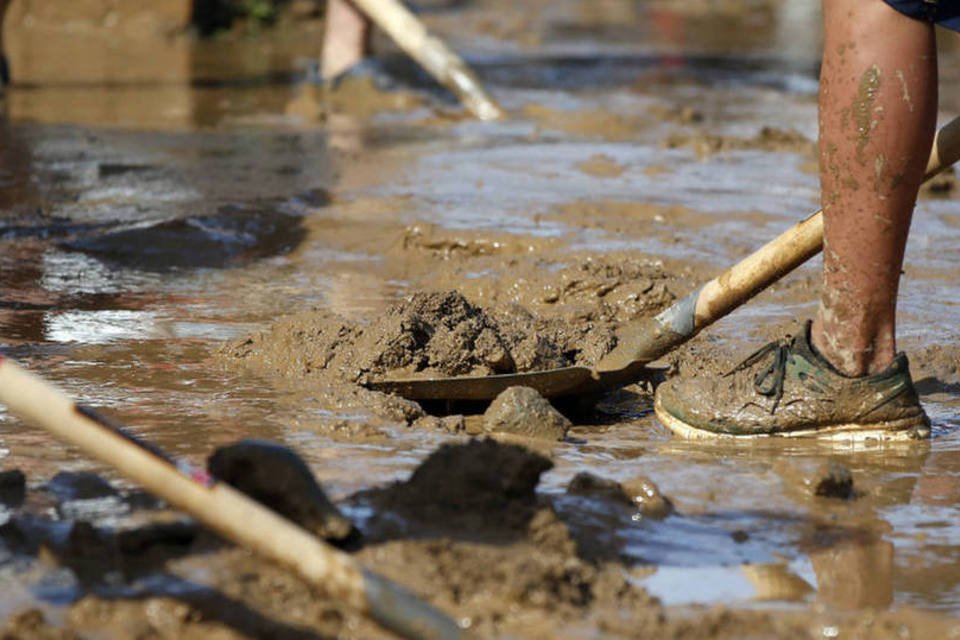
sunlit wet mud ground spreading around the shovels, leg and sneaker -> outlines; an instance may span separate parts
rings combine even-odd
[[[11,58],[33,75],[3,98],[0,122],[0,352],[195,464],[242,438],[295,448],[368,537],[362,562],[486,633],[948,637],[960,614],[952,182],[921,199],[901,290],[900,346],[934,423],[928,443],[685,442],[634,385],[568,411],[562,442],[530,443],[552,468],[526,502],[477,507],[502,529],[467,535],[469,521],[430,529],[385,487],[482,433],[483,407],[421,407],[361,389],[359,376],[308,375],[302,360],[291,368],[295,341],[286,360],[261,354],[255,367],[224,355],[295,314],[370,325],[417,292],[519,305],[571,333],[655,313],[817,209],[817,5],[489,0],[427,11],[509,111],[497,123],[464,116],[386,43],[399,95],[361,85],[325,103],[301,82],[316,30],[158,39],[157,55],[174,62],[78,64],[75,83],[51,71],[69,66],[25,56],[42,37],[26,31]],[[960,107],[960,65],[942,36],[945,122]],[[661,364],[717,372],[798,330],[815,309],[818,267]],[[0,409],[0,471],[15,469],[26,501],[0,500],[0,618],[15,637],[46,628],[23,614],[32,609],[110,637],[378,633],[195,532],[160,553],[172,559],[163,570],[91,579],[70,561],[83,555],[67,540],[71,522],[136,509],[118,506],[124,494],[71,511],[78,500],[50,481],[94,471],[129,485]],[[583,472],[624,486],[642,476],[672,509],[654,517],[573,491]],[[852,488],[819,495],[840,472]],[[4,534],[28,515],[53,551]],[[524,571],[540,581],[526,585]]]

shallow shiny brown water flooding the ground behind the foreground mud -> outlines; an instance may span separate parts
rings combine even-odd
[[[112,63],[78,63],[77,82],[44,62],[48,47],[81,55],[71,40],[14,33],[32,76],[0,123],[3,353],[195,463],[243,437],[286,443],[342,498],[405,478],[455,437],[225,368],[223,341],[312,307],[363,321],[433,288],[549,312],[538,278],[586,260],[660,261],[679,296],[817,208],[802,143],[816,134],[816,3],[515,5],[428,14],[510,111],[492,124],[435,97],[303,117],[318,108],[297,82],[312,27],[158,39],[156,67],[88,47]],[[947,118],[960,67],[943,48]],[[38,52],[29,65],[25,51]],[[801,144],[765,143],[764,126]],[[929,443],[688,443],[627,396],[555,447],[540,490],[562,512],[583,508],[562,495],[578,472],[654,479],[675,515],[600,510],[588,524],[651,567],[635,580],[668,605],[960,613],[958,222],[955,195],[922,200],[905,267],[899,329]],[[726,365],[796,329],[817,266],[709,329],[678,366]],[[34,485],[63,469],[112,477],[2,409],[0,427],[0,468]],[[810,496],[826,459],[850,469],[856,500]],[[57,604],[49,578],[18,575],[0,614]]]

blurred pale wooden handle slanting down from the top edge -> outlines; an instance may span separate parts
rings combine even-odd
[[[481,120],[496,120],[503,110],[480,85],[466,63],[440,39],[430,35],[423,23],[399,0],[352,0],[403,51],[460,98],[470,113]]]

